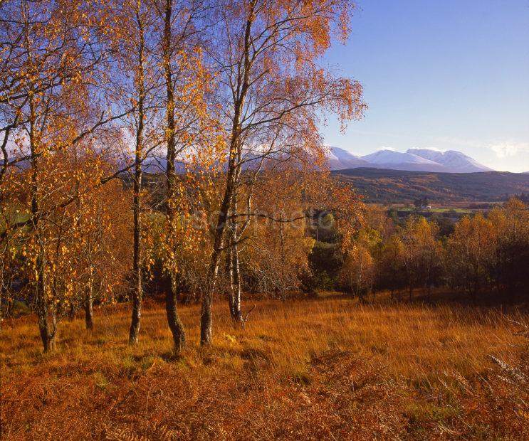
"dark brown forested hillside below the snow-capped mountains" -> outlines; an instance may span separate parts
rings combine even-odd
[[[426,197],[434,202],[498,202],[507,196],[529,193],[529,174],[486,171],[436,173],[357,168],[332,171],[350,181],[365,201],[407,203]]]

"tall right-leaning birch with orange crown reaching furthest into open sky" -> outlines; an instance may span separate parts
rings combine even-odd
[[[211,26],[208,60],[218,73],[217,102],[226,130],[224,195],[214,225],[209,287],[202,297],[201,344],[211,344],[211,303],[243,164],[259,159],[323,156],[322,112],[342,122],[365,108],[360,84],[332,75],[318,61],[332,36],[345,41],[350,2],[224,0]],[[245,207],[247,208],[247,207]]]

